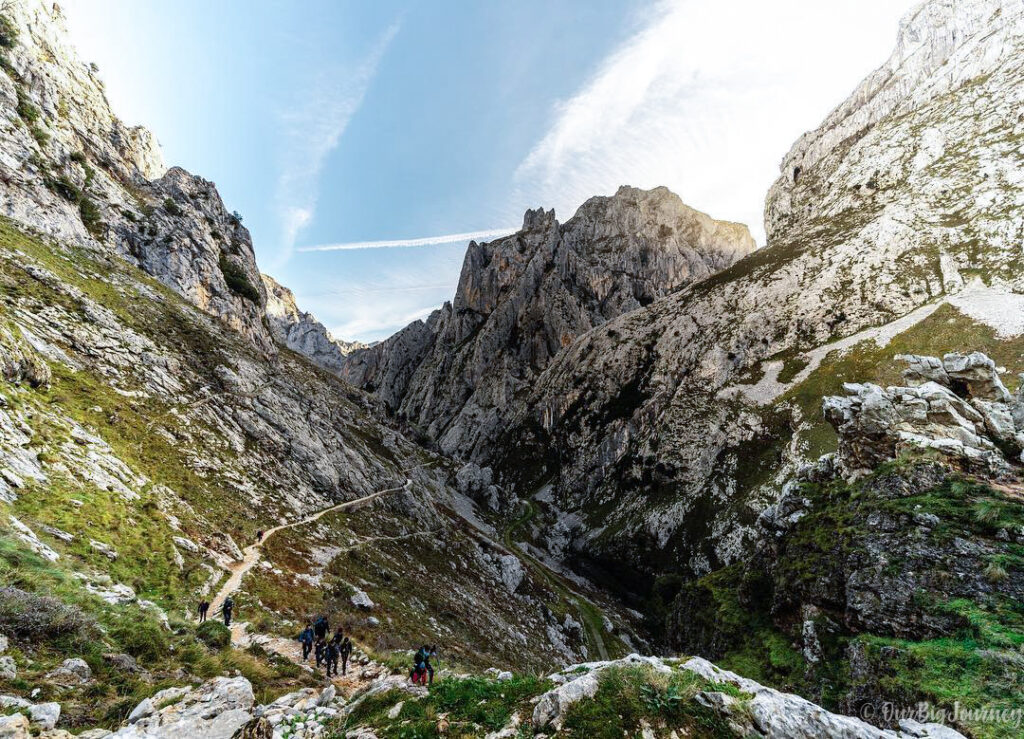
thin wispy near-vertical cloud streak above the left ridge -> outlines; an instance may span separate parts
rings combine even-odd
[[[296,104],[282,115],[285,145],[275,191],[281,222],[281,248],[275,260],[279,265],[291,258],[299,233],[312,221],[324,163],[362,104],[398,27],[397,23],[391,25],[354,69],[323,72],[301,91]]]

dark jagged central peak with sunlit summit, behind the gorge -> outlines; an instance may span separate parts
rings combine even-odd
[[[470,244],[452,304],[352,352],[342,377],[374,390],[444,452],[479,458],[578,336],[754,247],[744,226],[713,220],[664,187],[593,198],[564,225],[554,211],[528,211],[518,233]]]

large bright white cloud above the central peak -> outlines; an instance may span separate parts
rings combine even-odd
[[[913,0],[665,0],[553,112],[517,203],[565,218],[618,185],[668,185],[764,242],[777,165],[894,46]]]

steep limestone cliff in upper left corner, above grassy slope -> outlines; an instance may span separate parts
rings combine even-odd
[[[167,170],[153,135],[114,115],[56,4],[4,14],[17,35],[0,74],[0,214],[137,264],[273,353],[249,231],[214,184]]]

